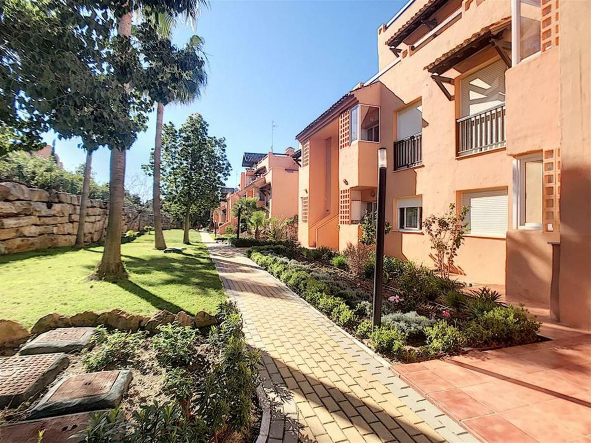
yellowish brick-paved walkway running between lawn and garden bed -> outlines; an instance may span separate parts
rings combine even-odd
[[[476,441],[241,249],[202,238],[249,344],[264,353],[269,442]]]

